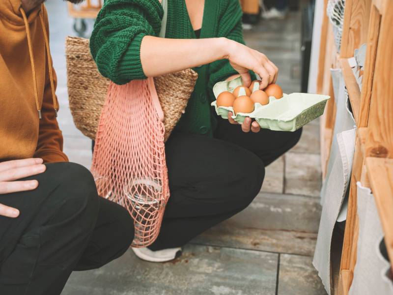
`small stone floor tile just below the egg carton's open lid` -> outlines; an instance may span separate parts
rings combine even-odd
[[[319,124],[309,123],[303,126],[302,137],[295,147],[291,149],[296,152],[320,153]]]

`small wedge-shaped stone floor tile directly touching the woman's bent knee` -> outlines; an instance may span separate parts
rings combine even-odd
[[[284,189],[284,157],[278,158],[265,168],[262,192],[282,193]]]

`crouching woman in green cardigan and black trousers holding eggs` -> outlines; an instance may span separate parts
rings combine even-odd
[[[125,84],[186,68],[198,73],[186,112],[166,143],[170,198],[157,240],[134,249],[141,259],[175,258],[181,246],[246,208],[258,194],[264,167],[293,147],[301,130],[261,130],[217,118],[210,106],[215,83],[254,74],[261,88],[277,80],[277,67],[244,45],[239,0],[168,0],[166,38],[159,38],[158,0],[106,0],[90,49],[98,69]],[[252,133],[249,133],[252,131]]]

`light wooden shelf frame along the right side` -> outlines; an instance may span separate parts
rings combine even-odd
[[[326,4],[327,0],[325,0]],[[393,266],[393,1],[392,0],[346,0],[341,51],[336,52],[334,44],[329,44],[332,30],[329,23],[323,24],[326,39],[320,48],[317,89],[327,93],[331,89],[328,69],[337,66],[342,70],[344,82],[356,124],[355,154],[353,159],[349,188],[347,220],[341,255],[338,290],[335,294],[346,295],[353,280],[357,260],[359,221],[357,216],[357,181],[370,187],[385,233],[385,243]],[[326,6],[325,6],[326,9]],[[334,42],[333,42],[334,43]],[[348,58],[354,50],[366,43],[366,59],[363,73],[362,90],[356,82]],[[322,42],[321,42],[322,44]],[[329,47],[330,46],[330,47]],[[336,63],[335,63],[336,62]],[[330,73],[329,73],[330,74]],[[333,91],[332,91],[333,92]],[[321,159],[322,171],[329,159],[331,141],[327,134],[333,132],[335,112],[327,106],[325,114],[333,118],[322,118],[321,122]]]

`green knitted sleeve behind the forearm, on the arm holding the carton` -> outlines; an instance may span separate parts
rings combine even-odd
[[[225,12],[220,20],[220,27],[217,37],[226,37],[241,44],[245,44],[243,39],[242,28],[242,9],[238,0],[229,0]],[[208,88],[220,81],[224,81],[231,75],[237,74],[227,59],[220,59],[209,65],[209,82]],[[252,80],[255,74],[250,71]]]

